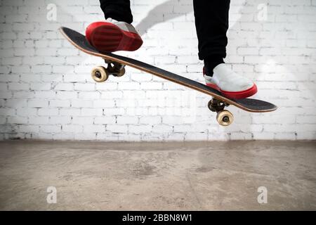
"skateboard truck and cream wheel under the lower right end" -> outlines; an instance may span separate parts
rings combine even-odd
[[[228,126],[234,121],[234,116],[232,113],[230,113],[228,110],[224,110],[224,108],[229,105],[230,104],[220,101],[216,98],[212,98],[207,104],[209,110],[217,113],[216,120],[222,126]]]

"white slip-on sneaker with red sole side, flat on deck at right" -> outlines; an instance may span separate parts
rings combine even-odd
[[[238,75],[225,63],[220,63],[213,69],[213,77],[203,75],[207,86],[220,91],[227,98],[248,98],[257,93],[257,86],[246,77]]]

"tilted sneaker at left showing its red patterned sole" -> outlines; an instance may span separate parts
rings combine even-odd
[[[129,23],[107,18],[105,22],[91,23],[86,28],[86,39],[98,51],[136,51],[143,40]]]

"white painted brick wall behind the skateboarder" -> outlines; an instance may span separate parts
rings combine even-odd
[[[48,21],[56,4],[57,21]],[[121,53],[203,82],[192,0],[132,0],[143,47]],[[268,6],[267,20],[260,11]],[[98,0],[1,0],[0,139],[182,141],[316,138],[316,0],[232,0],[228,57],[254,79],[256,98],[279,106],[219,127],[209,96],[126,68],[96,84],[100,58],[57,32],[103,20]]]

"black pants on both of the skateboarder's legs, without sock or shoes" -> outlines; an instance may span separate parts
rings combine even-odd
[[[129,0],[100,0],[105,19],[133,22]],[[230,0],[193,0],[199,59],[226,57]]]

